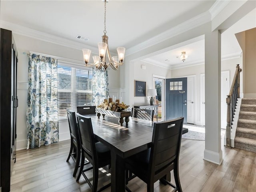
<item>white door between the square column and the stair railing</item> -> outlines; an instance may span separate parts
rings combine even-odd
[[[227,104],[226,97],[230,90],[229,71],[221,72],[221,128],[226,129],[227,125]]]

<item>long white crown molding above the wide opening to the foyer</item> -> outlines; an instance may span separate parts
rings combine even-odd
[[[201,26],[203,24],[206,24],[211,21],[210,19],[211,14],[209,11],[206,11],[202,14],[199,14],[198,16],[195,16],[189,20],[186,20],[185,22],[174,26],[170,28],[169,30],[166,30],[136,46],[133,46],[126,50],[126,55],[134,54],[140,50],[143,50],[145,48],[148,48],[150,46],[154,46],[155,44],[158,44],[160,42],[163,42],[164,40],[167,40],[169,38],[172,38],[174,36],[177,36],[179,34],[182,34],[188,30],[191,30],[193,28],[196,28],[198,26]]]

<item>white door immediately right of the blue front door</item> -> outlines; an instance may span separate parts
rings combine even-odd
[[[187,123],[195,123],[195,104],[194,104],[194,77],[188,77],[187,84]]]

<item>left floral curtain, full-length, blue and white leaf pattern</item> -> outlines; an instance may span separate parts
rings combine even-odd
[[[30,54],[28,63],[28,148],[59,141],[57,59]]]

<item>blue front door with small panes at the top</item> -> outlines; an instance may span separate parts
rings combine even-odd
[[[166,120],[184,117],[187,123],[187,78],[166,79]]]

